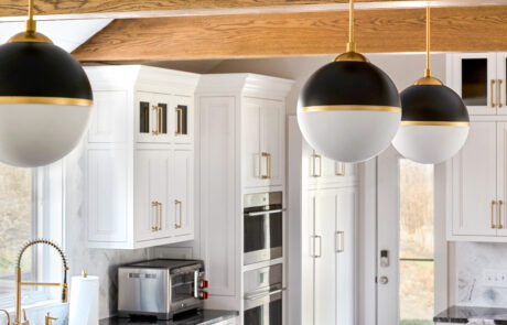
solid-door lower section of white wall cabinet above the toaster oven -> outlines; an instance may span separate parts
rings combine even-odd
[[[193,151],[87,150],[86,212],[93,248],[143,248],[194,237]],[[130,158],[130,159],[129,159]]]

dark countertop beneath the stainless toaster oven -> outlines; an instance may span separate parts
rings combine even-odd
[[[202,310],[192,314],[185,314],[173,321],[157,321],[150,318],[119,318],[111,317],[100,319],[99,325],[211,325],[238,316],[237,311]]]

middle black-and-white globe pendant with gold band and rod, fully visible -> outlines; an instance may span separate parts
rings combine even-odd
[[[401,102],[389,76],[356,52],[354,0],[349,6],[347,52],[308,79],[299,98],[298,122],[320,154],[360,162],[390,145],[399,128]]]

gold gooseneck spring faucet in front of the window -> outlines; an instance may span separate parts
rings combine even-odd
[[[64,269],[64,274],[63,274],[63,282],[62,283],[48,283],[48,282],[22,282],[21,281],[21,258],[23,257],[23,253],[29,249],[31,246],[36,245],[36,243],[43,243],[43,245],[48,245],[56,249],[58,252],[60,257],[62,258],[63,261],[63,269]],[[46,239],[34,239],[29,242],[26,242],[20,250],[20,253],[18,254],[18,262],[15,266],[15,321],[14,325],[28,325],[30,324],[26,321],[26,316],[24,317],[25,319],[21,322],[21,286],[22,285],[45,285],[45,286],[62,286],[62,302],[67,302],[67,292],[68,292],[68,286],[67,286],[67,271],[68,271],[68,266],[67,266],[67,259],[65,257],[65,253],[63,250],[54,243],[51,240]]]

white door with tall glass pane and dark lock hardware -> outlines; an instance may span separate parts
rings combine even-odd
[[[435,264],[446,243],[434,231],[444,223],[433,218],[433,169],[392,148],[378,158],[377,325],[433,324],[435,281],[446,277]]]

